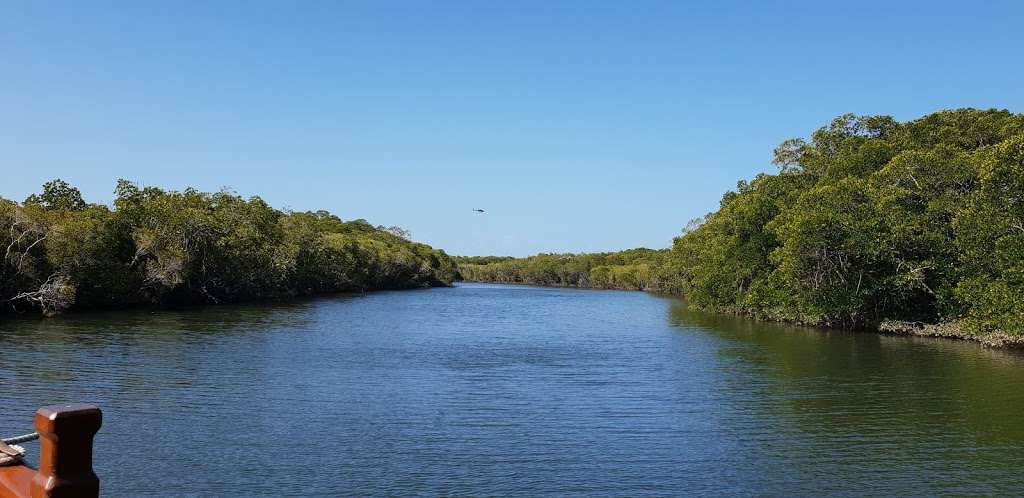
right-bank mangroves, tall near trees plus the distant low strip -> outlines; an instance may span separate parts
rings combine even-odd
[[[1024,115],[845,115],[671,249],[456,257],[469,282],[648,290],[761,320],[1024,347]]]

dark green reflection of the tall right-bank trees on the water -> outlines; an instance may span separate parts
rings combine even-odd
[[[793,474],[795,488],[822,490],[821,480],[836,472],[833,492],[848,490],[851,478],[880,493],[1020,490],[1018,351],[763,324],[694,313],[683,302],[670,306],[670,317],[677,327],[732,342],[720,352],[735,362],[725,375],[731,416],[736,425],[767,424],[745,444],[770,462],[766,470]]]

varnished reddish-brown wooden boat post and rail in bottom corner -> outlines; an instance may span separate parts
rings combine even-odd
[[[98,497],[92,439],[102,421],[99,409],[84,403],[40,408],[39,468],[24,463],[0,466],[0,498]]]

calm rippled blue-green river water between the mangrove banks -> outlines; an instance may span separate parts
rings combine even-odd
[[[640,292],[4,318],[0,382],[5,437],[102,408],[105,496],[1024,493],[1020,355]]]

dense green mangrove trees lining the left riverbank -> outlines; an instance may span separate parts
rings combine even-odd
[[[396,226],[289,212],[228,192],[139,189],[115,209],[61,180],[19,205],[0,198],[0,303],[76,306],[226,302],[449,285],[456,263]]]

